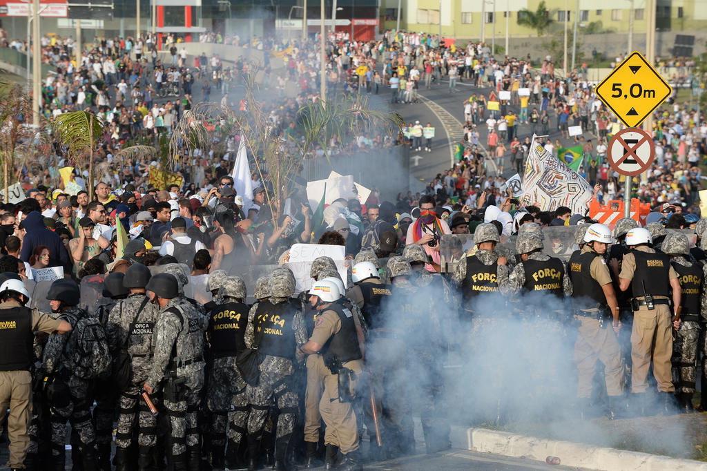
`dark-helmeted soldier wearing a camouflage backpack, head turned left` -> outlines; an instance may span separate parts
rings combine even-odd
[[[90,417],[89,390],[94,379],[110,371],[110,351],[98,318],[78,307],[81,293],[71,279],[57,279],[47,301],[59,320],[71,324],[71,335],[51,335],[42,357],[42,373],[49,378],[49,420],[52,424],[52,469],[64,470],[66,422],[78,435],[72,461],[84,471],[96,470],[95,429]]]

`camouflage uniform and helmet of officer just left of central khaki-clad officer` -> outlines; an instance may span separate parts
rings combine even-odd
[[[313,264],[312,268],[314,268]],[[292,272],[286,268],[275,269],[269,277],[268,287],[270,291],[269,303],[273,307],[285,308],[286,306],[278,305],[289,303],[288,298],[294,292],[295,279]],[[291,303],[291,307],[295,308],[294,306],[294,303]],[[261,322],[260,319],[256,319],[256,311],[261,307],[262,303],[259,303],[258,306],[253,306],[248,313],[248,325],[245,330],[245,345],[248,348],[255,341],[255,323]],[[293,315],[291,328],[297,346],[296,351],[293,351],[288,357],[264,355],[259,366],[260,378],[258,385],[248,385],[246,388],[248,403],[250,404],[250,417],[248,417],[247,426],[248,455],[250,460],[254,462],[259,454],[265,421],[273,402],[280,412],[276,426],[276,460],[284,460],[291,434],[297,421],[299,400],[298,393],[293,387],[293,373],[295,373],[295,361],[293,359],[295,357],[301,358],[298,347],[307,342],[305,322],[299,309]]]

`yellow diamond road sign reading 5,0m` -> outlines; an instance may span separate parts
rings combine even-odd
[[[626,126],[637,127],[670,96],[672,88],[640,52],[633,52],[595,92]]]

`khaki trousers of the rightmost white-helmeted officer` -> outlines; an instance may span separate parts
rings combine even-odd
[[[631,392],[641,393],[648,389],[648,368],[653,361],[653,376],[658,390],[674,392],[672,384],[672,313],[665,304],[657,304],[648,310],[641,306],[633,312],[631,332]]]

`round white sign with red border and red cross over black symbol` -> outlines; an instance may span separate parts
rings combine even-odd
[[[619,174],[641,175],[655,158],[653,137],[638,127],[622,129],[609,141],[607,156],[609,165]]]

